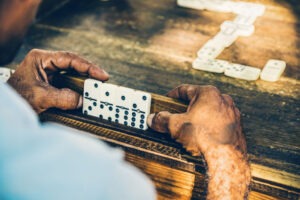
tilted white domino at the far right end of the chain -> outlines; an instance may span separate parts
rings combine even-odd
[[[284,72],[286,63],[283,60],[271,59],[263,68],[260,78],[265,81],[275,82],[278,81],[281,74]]]

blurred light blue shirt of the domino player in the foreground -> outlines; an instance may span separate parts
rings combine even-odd
[[[155,199],[151,181],[121,150],[56,124],[0,84],[0,199]]]

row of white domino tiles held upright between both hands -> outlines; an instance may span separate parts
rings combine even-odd
[[[101,81],[84,82],[83,114],[137,129],[148,128],[151,94]]]

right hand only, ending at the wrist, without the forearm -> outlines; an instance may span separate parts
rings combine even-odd
[[[230,145],[246,154],[240,125],[240,112],[232,98],[213,86],[181,85],[168,97],[189,102],[185,113],[162,111],[148,117],[152,129],[166,133],[193,155],[205,154],[216,147]],[[222,155],[219,155],[222,156]]]

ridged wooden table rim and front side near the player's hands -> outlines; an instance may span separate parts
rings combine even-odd
[[[57,87],[64,86],[78,93],[83,93],[85,78],[86,77],[60,73],[54,76],[53,82]],[[169,111],[178,113],[185,111],[186,108],[187,105],[184,102],[152,94],[151,112]],[[172,197],[171,199],[205,197],[206,169],[205,165],[201,162],[202,158],[192,157],[165,134],[155,133],[151,130],[146,132],[138,131],[115,123],[108,123],[105,120],[82,115],[80,110],[68,113],[51,110],[43,113],[41,119],[43,121],[59,122],[76,129],[90,132],[112,145],[121,146],[126,150],[127,158],[130,155],[131,159],[129,161],[142,168],[143,171],[154,180],[159,197],[161,198],[166,196],[169,198]],[[255,155],[251,153],[249,153],[249,156],[255,157]],[[162,167],[161,164],[164,164],[164,167]],[[157,165],[160,166],[160,168],[155,167]],[[160,173],[164,173],[163,169],[169,169],[171,171],[175,169],[178,175],[170,179],[169,173],[165,173],[164,178],[160,177]],[[178,181],[182,182],[181,179],[185,179],[187,175],[186,171],[189,172],[189,176],[193,177],[193,179],[190,180],[191,182],[185,183],[184,186],[174,184]],[[254,162],[251,163],[251,171],[252,192],[250,199],[265,199],[266,195],[272,195],[278,198],[299,198],[298,183],[300,176],[272,169]],[[166,185],[159,184],[158,180],[164,180]],[[197,185],[194,185],[196,180],[198,180]],[[161,188],[164,188],[164,190]],[[187,188],[189,189],[187,190]],[[253,193],[256,194],[255,198]],[[184,196],[183,194],[188,196]]]

